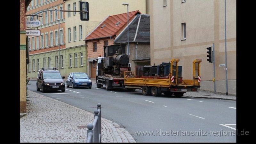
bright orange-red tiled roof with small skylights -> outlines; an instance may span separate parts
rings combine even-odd
[[[137,14],[141,14],[139,10],[129,12],[129,22]],[[117,14],[107,17],[100,25],[95,28],[89,35],[85,37],[85,40],[105,38],[114,36],[121,28],[127,25],[127,13]]]

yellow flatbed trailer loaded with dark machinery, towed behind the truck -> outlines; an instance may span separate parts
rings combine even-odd
[[[136,71],[124,72],[124,86],[126,88],[141,89],[143,95],[159,96],[162,93],[181,97],[185,92],[199,92],[200,62],[193,61],[193,79],[183,79],[182,66],[178,66],[180,59],[163,62],[160,65],[135,68]]]

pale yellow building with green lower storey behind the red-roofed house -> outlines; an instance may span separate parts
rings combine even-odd
[[[67,12],[65,17],[66,24],[66,56],[67,60],[74,60],[75,52],[80,53],[83,52],[83,66],[77,66],[74,68],[73,61],[71,67],[67,67],[67,74],[72,71],[86,72],[89,76],[92,76],[92,60],[87,59],[87,45],[85,44],[85,37],[96,28],[100,22],[106,19],[110,15],[116,15],[120,13],[127,12],[127,6],[122,5],[124,2],[129,3],[129,12],[139,10],[141,13],[146,13],[146,0],[81,0],[82,2],[89,3],[89,20],[82,21],[80,20],[79,12]],[[65,0],[66,10],[80,10],[79,0]],[[110,44],[110,43],[109,43]],[[103,48],[103,47],[102,47]],[[78,50],[79,49],[79,50]],[[77,55],[77,59],[81,59],[79,55]],[[66,61],[67,64],[69,61]]]

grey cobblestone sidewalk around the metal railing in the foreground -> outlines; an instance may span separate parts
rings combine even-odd
[[[27,113],[20,113],[20,142],[86,142],[91,112],[29,90],[27,100]],[[120,125],[101,121],[102,142],[136,142]]]

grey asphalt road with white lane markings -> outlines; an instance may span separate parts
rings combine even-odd
[[[36,81],[28,89],[36,91]],[[123,126],[137,142],[236,142],[236,101],[144,96],[140,90],[66,88],[38,92],[84,110],[101,104],[102,117]],[[196,93],[195,93],[196,94]]]

